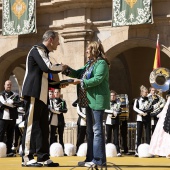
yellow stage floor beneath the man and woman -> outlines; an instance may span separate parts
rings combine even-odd
[[[64,157],[51,157],[54,162],[60,164],[59,167],[40,167],[40,168],[29,168],[21,167],[21,157],[12,158],[0,158],[0,170],[23,170],[23,169],[43,169],[43,170],[86,170],[87,167],[78,167],[77,163],[83,161],[84,157],[77,156],[64,156]],[[155,158],[138,158],[133,155],[107,158],[108,170],[120,169],[120,170],[164,170],[170,169],[170,159],[164,157]],[[90,168],[91,169],[91,168]],[[101,168],[99,168],[101,169]],[[103,168],[103,170],[106,168]]]

